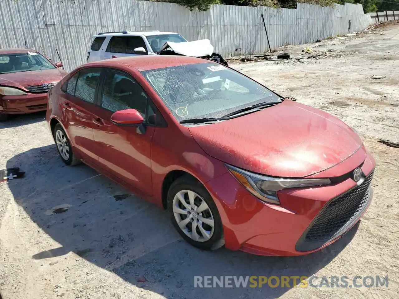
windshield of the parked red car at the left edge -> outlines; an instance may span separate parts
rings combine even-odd
[[[55,66],[37,52],[0,55],[0,74],[55,69]]]

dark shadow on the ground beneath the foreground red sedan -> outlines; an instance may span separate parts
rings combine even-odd
[[[65,166],[55,145],[20,153],[7,167],[26,171],[26,177],[8,182],[16,203],[61,244],[34,254],[33,259],[74,252],[132,285],[166,298],[277,298],[290,288],[267,284],[262,288],[194,288],[194,276],[310,277],[345,248],[358,228],[354,226],[334,244],[302,257],[253,256],[224,248],[206,252],[182,240],[166,211],[128,195],[86,165]],[[140,282],[138,277],[146,281]]]

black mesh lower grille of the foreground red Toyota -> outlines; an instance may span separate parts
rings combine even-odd
[[[329,201],[308,230],[305,241],[330,240],[342,227],[358,217],[369,201],[368,188],[373,174],[371,172],[361,185],[348,193]]]

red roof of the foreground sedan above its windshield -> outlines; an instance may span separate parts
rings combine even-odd
[[[213,61],[207,61],[203,58],[180,55],[138,55],[90,62],[86,63],[85,66],[117,67],[122,64],[127,67],[135,68],[138,71],[148,71],[152,69],[162,69],[164,67],[176,67],[178,65],[212,62]]]

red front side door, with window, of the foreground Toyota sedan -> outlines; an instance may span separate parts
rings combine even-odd
[[[118,110],[133,108],[145,119],[148,96],[128,74],[105,70],[100,103],[92,110],[99,165],[132,187],[152,195],[151,140],[155,127],[141,132],[134,126],[117,126],[111,115]]]

